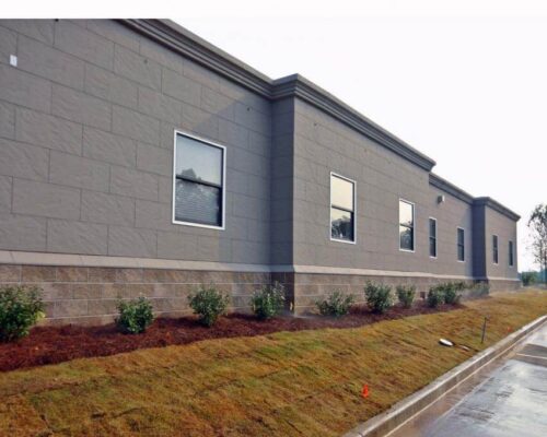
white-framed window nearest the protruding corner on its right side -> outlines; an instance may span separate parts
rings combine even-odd
[[[356,182],[330,174],[330,239],[356,243]]]

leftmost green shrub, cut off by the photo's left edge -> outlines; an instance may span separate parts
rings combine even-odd
[[[37,287],[7,286],[0,290],[0,341],[27,335],[31,327],[44,317],[44,303]]]

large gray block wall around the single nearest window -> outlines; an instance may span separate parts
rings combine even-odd
[[[269,262],[268,99],[113,21],[0,33],[0,249]],[[174,129],[226,146],[224,232],[171,223]]]

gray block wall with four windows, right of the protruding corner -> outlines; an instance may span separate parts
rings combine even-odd
[[[294,263],[473,276],[470,204],[429,184],[417,167],[349,127],[296,101]],[[330,240],[330,172],[356,181],[357,240]],[[399,250],[399,199],[415,203],[415,252]],[[429,217],[438,220],[438,258],[429,256]],[[457,262],[456,228],[466,261]]]

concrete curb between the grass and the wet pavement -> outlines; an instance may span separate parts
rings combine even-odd
[[[537,318],[519,331],[500,340],[493,346],[486,349],[440,376],[421,390],[397,402],[389,410],[356,426],[344,437],[381,437],[392,433],[481,367],[509,353],[521,339],[545,322],[547,322],[547,316]]]

